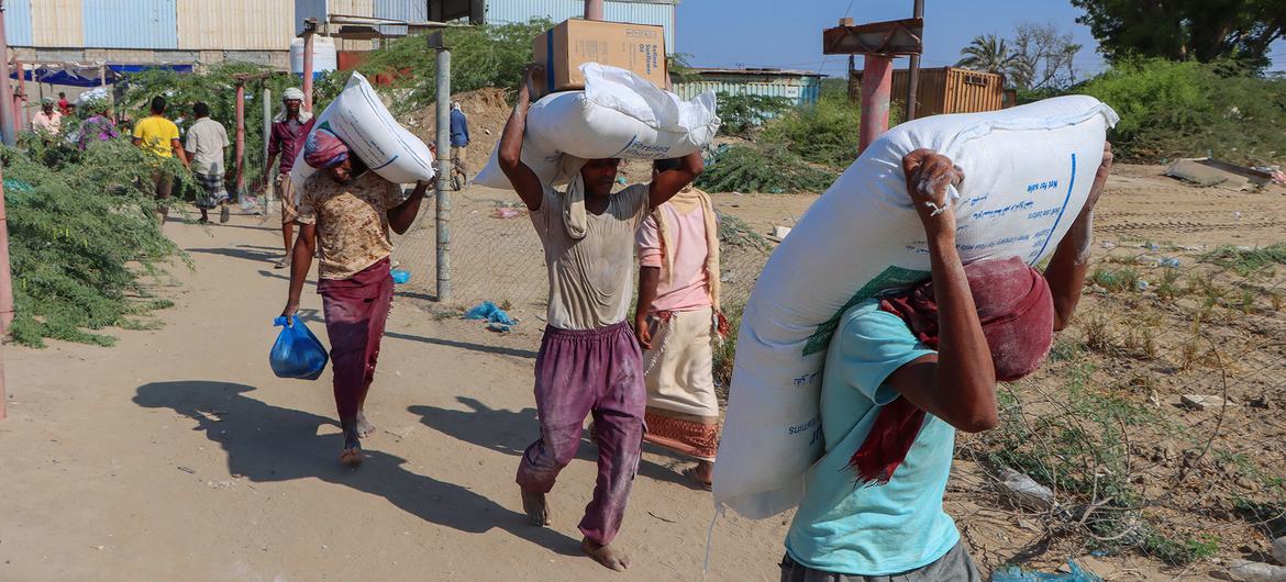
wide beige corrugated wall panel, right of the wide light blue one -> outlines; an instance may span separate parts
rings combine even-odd
[[[177,0],[179,48],[289,50],[294,0]]]

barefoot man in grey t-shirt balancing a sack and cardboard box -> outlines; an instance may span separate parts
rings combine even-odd
[[[500,170],[531,213],[549,270],[549,326],[536,357],[540,439],[523,452],[517,483],[531,524],[549,525],[545,493],[576,456],[585,416],[593,414],[598,483],[580,522],[581,550],[607,568],[624,570],[629,558],[611,542],[638,470],[646,406],[642,353],[625,321],[634,233],[649,208],[692,182],[703,164],[694,153],[651,184],[613,194],[620,159],[565,155],[567,190],[543,184],[521,159],[536,71],[531,66],[523,75],[498,152]]]

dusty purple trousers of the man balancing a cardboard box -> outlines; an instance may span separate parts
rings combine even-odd
[[[625,501],[643,448],[643,355],[625,322],[595,330],[545,328],[536,356],[540,439],[518,465],[523,491],[548,493],[580,446],[585,416],[594,415],[598,483],[580,531],[608,545],[621,528]]]

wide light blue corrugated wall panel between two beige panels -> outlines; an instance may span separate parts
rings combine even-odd
[[[87,48],[179,48],[175,0],[84,1],[85,46]],[[66,23],[62,24],[66,26]]]

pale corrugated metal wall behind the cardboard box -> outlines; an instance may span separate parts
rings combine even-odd
[[[562,22],[585,15],[584,0],[487,0],[486,22],[513,23],[532,18]],[[603,18],[612,22],[656,24],[665,27],[665,51],[674,54],[674,4],[670,3],[603,3]]]

